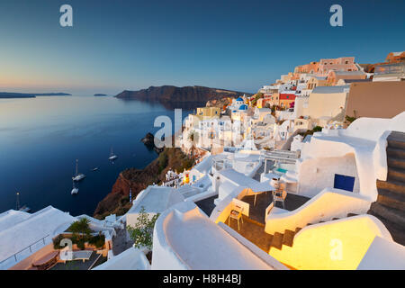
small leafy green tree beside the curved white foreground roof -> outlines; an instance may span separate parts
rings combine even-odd
[[[139,211],[137,222],[134,226],[128,226],[127,230],[130,234],[130,238],[134,241],[134,246],[137,248],[148,247],[152,248],[153,244],[153,228],[159,214],[149,218],[148,213],[145,211],[145,207],[142,206]]]

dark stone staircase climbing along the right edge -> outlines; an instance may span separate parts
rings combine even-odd
[[[405,245],[405,133],[392,131],[387,142],[387,181],[377,180],[378,198],[367,213],[383,222],[395,242]]]

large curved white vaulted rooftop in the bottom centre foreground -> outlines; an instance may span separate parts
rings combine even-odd
[[[192,202],[182,202],[176,207],[157,220],[155,229],[157,234],[165,234],[164,237],[157,236],[166,241],[159,244],[162,247],[168,245],[185,266],[197,270],[224,267],[229,270],[272,269],[272,266],[203,215]],[[160,227],[163,223],[164,227]]]

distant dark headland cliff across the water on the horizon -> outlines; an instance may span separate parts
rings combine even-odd
[[[204,86],[176,87],[172,85],[164,85],[150,86],[148,89],[142,89],[139,91],[125,90],[115,97],[122,99],[154,101],[160,103],[206,103],[212,99],[236,97],[241,94],[244,93]],[[247,93],[247,95],[251,94]]]

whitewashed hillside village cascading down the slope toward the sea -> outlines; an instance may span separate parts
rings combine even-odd
[[[1,213],[0,269],[405,268],[405,51],[311,61],[252,96],[211,101],[175,146],[196,164],[123,215]],[[145,213],[158,216],[153,243],[134,247],[128,230]],[[104,242],[58,247],[83,219]]]

